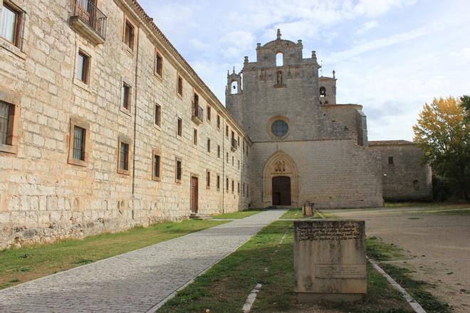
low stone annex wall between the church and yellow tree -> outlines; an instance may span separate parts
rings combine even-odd
[[[421,149],[405,140],[372,141],[369,145],[381,154],[385,200],[432,199],[432,171],[429,165],[422,166]]]

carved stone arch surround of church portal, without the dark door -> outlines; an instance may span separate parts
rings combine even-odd
[[[292,206],[298,205],[298,173],[293,159],[284,152],[273,154],[263,169],[263,203],[272,205],[273,177],[288,176],[291,178],[291,202]]]

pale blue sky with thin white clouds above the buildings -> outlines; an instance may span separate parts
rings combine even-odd
[[[434,97],[470,95],[469,0],[139,0],[225,103],[226,73],[282,38],[335,70],[337,103],[363,105],[370,140],[412,140]]]

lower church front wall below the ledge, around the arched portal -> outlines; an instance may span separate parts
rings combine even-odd
[[[305,201],[315,203],[315,208],[379,207],[383,204],[380,155],[357,146],[352,139],[263,142],[254,143],[251,150],[254,207],[272,205],[271,177],[263,172],[263,167],[279,153],[291,159],[289,163],[295,167],[288,173],[273,173],[291,176],[293,207],[301,207]]]

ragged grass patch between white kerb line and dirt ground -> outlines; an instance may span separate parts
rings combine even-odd
[[[451,312],[449,304],[440,301],[427,291],[429,285],[422,280],[414,280],[409,274],[412,271],[404,267],[398,267],[387,262],[402,257],[402,249],[396,245],[384,243],[382,240],[374,237],[367,239],[367,255],[369,258],[376,260],[382,270],[385,270],[400,286],[402,286],[409,295],[411,295],[426,312],[447,313]]]

